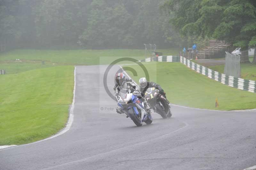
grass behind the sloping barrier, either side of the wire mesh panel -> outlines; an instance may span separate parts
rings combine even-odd
[[[241,63],[241,78],[247,80],[254,80],[256,81],[256,65],[251,63]],[[210,69],[224,73],[225,65],[219,66],[210,66]]]

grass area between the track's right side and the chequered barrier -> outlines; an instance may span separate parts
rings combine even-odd
[[[151,81],[160,84],[173,104],[212,110],[240,110],[256,108],[256,94],[235,89],[199,74],[181,63],[154,62],[145,64]],[[136,65],[138,83],[144,72]],[[132,73],[128,74],[132,75]],[[219,107],[215,108],[215,99]]]

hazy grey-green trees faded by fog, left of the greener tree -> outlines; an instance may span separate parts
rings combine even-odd
[[[177,44],[164,0],[0,0],[0,49]],[[169,15],[169,14],[168,14]]]

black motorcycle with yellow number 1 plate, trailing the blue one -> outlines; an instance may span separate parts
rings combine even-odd
[[[148,88],[144,94],[148,105],[154,109],[154,112],[160,114],[164,119],[172,117],[172,112],[166,98],[158,89],[154,87]]]

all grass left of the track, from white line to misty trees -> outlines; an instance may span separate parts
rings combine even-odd
[[[177,52],[175,49],[160,51],[168,55]],[[1,53],[0,69],[7,74],[0,75],[0,145],[35,142],[65,127],[73,97],[74,66],[64,65],[109,64],[122,56],[139,60],[144,55],[144,50]]]

